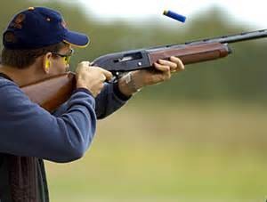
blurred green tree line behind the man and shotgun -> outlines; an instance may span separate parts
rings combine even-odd
[[[89,3],[88,3],[89,4]],[[172,27],[160,20],[150,19],[127,23],[122,20],[103,22],[85,12],[82,4],[71,1],[4,1],[0,8],[0,28],[3,33],[12,15],[29,6],[48,6],[61,11],[70,29],[87,33],[91,44],[76,50],[71,61],[75,68],[78,61],[93,61],[100,55],[142,47],[180,44],[186,41],[213,36],[236,34],[251,30],[247,26],[227,21],[227,16],[214,7],[191,16],[185,25],[174,21]],[[2,36],[1,36],[2,38]],[[231,44],[233,54],[218,61],[194,64],[174,75],[164,85],[144,89],[137,99],[151,101],[257,101],[267,100],[267,40]],[[1,44],[2,48],[2,44]]]

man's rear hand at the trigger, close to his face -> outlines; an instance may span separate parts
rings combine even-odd
[[[112,78],[111,72],[99,67],[90,66],[89,61],[82,61],[77,65],[76,80],[77,88],[86,88],[93,97],[101,93],[104,82]]]

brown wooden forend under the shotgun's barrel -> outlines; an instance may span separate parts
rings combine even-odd
[[[173,47],[168,50],[150,52],[150,63],[157,62],[158,59],[168,59],[171,56],[180,58],[183,64],[192,64],[200,61],[212,61],[215,59],[226,57],[231,53],[231,49],[227,44],[207,43],[192,44]]]

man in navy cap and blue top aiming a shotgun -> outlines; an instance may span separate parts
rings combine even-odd
[[[77,65],[77,89],[53,115],[21,92],[21,85],[66,72],[72,47],[89,38],[69,31],[59,12],[30,7],[15,15],[4,31],[0,67],[0,201],[49,201],[43,159],[70,162],[81,158],[95,132],[96,119],[107,117],[146,85],[183,69],[172,57],[156,71],[137,70],[108,84],[112,74],[89,61]]]

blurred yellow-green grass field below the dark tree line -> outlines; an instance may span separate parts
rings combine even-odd
[[[267,109],[135,104],[99,121],[85,158],[46,162],[52,201],[266,200]]]

